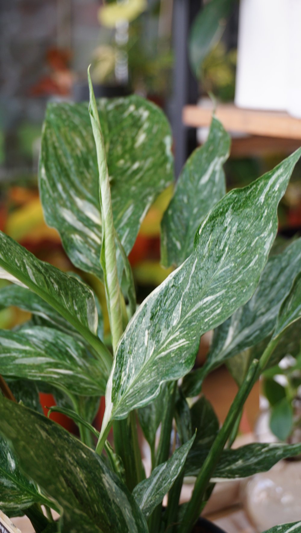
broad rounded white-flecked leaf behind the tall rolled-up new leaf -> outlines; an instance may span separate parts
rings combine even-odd
[[[131,251],[147,209],[173,181],[171,132],[163,112],[140,96],[97,100],[115,229]],[[103,278],[101,206],[87,103],[47,108],[39,167],[47,224],[78,268]]]

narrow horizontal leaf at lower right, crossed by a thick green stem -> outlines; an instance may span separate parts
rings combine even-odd
[[[208,449],[198,445],[190,450],[185,463],[185,475],[197,476]],[[301,444],[259,443],[237,449],[225,449],[216,466],[211,481],[247,478],[258,472],[266,472],[281,459],[301,453]]]

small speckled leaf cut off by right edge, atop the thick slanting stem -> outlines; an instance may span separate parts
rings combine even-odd
[[[291,324],[301,319],[301,272],[296,276],[290,293],[282,303],[272,338],[277,338]],[[301,332],[300,332],[301,338]]]

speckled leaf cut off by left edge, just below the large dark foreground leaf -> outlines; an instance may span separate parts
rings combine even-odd
[[[22,472],[10,446],[0,437],[0,507],[8,516],[24,514],[33,503],[49,505],[34,481]]]

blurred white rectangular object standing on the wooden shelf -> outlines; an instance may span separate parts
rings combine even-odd
[[[288,3],[240,0],[235,91],[238,107],[287,109]]]

